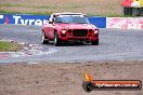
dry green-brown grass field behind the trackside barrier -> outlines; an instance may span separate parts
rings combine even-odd
[[[0,14],[50,15],[78,12],[88,16],[130,17],[121,13],[121,0],[0,0]]]

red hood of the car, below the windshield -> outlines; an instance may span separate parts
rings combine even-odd
[[[95,29],[96,27],[91,24],[56,24],[57,27],[65,29]]]

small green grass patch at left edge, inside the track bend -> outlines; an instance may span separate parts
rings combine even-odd
[[[20,44],[0,41],[0,52],[16,52],[21,49],[22,46]]]

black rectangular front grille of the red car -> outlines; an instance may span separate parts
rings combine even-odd
[[[86,37],[88,35],[87,29],[74,29],[73,30],[73,36],[74,37]]]

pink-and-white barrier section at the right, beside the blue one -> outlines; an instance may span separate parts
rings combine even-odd
[[[143,17],[107,17],[106,28],[143,29]]]

